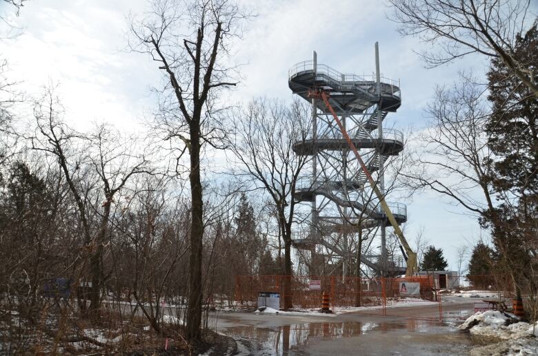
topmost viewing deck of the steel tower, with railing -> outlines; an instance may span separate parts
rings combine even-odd
[[[306,100],[310,100],[310,88],[321,87],[330,92],[330,101],[335,109],[348,114],[360,114],[373,103],[379,102],[375,75],[342,74],[319,63],[315,71],[314,61],[300,62],[291,67],[288,71],[288,85],[294,94]],[[400,105],[398,82],[381,76],[381,110],[396,112]],[[322,101],[318,101],[318,109],[326,112]]]

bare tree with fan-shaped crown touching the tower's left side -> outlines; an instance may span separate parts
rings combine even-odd
[[[284,242],[284,307],[291,308],[292,224],[297,209],[293,199],[301,170],[310,160],[299,156],[293,145],[308,135],[309,113],[294,101],[286,107],[277,101],[258,99],[235,117],[237,143],[231,145],[241,163],[239,176],[255,189],[265,190],[275,205],[279,233]]]

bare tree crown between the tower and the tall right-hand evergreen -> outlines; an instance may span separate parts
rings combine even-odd
[[[490,110],[485,88],[470,76],[462,79],[435,90],[427,109],[432,127],[417,137],[402,176],[411,189],[431,189],[484,218],[494,209],[488,176],[492,154],[484,133]]]

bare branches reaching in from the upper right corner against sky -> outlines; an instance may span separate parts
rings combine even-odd
[[[439,52],[423,51],[430,67],[467,54],[499,58],[524,85],[538,96],[538,84],[530,63],[515,55],[517,34],[532,21],[530,0],[389,0],[390,18],[403,35],[419,36],[439,45]]]

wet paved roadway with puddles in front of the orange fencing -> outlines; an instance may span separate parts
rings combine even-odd
[[[210,323],[235,337],[242,355],[467,355],[470,337],[455,326],[469,305],[448,309],[443,322],[432,307],[406,308],[407,316],[219,313]]]

